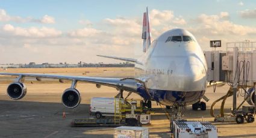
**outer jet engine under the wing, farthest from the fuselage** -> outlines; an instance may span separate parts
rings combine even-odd
[[[19,100],[27,94],[27,87],[24,83],[13,82],[7,88],[7,95],[13,100]]]

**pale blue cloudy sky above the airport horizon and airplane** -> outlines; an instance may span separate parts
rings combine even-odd
[[[210,40],[256,41],[256,1],[0,0],[0,64],[115,63],[96,55],[139,58],[143,12],[152,39],[184,28],[203,50]]]

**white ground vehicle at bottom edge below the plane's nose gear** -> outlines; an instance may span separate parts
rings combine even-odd
[[[217,138],[217,128],[208,121],[177,120],[172,123],[173,137]]]

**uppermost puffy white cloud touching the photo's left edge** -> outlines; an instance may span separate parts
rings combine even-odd
[[[25,23],[25,22],[34,22],[34,23],[55,23],[55,19],[52,16],[45,15],[42,19],[35,19],[33,17],[19,17],[19,16],[10,16],[7,12],[3,9],[0,9],[0,22],[18,22],[18,23]]]

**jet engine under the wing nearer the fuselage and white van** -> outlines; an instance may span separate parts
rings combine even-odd
[[[80,92],[77,89],[68,88],[63,92],[61,100],[67,108],[75,108],[81,102]]]

